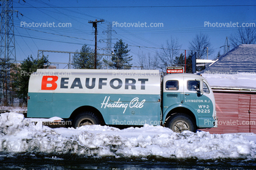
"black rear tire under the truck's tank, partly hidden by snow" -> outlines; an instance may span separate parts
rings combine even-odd
[[[81,127],[83,125],[99,125],[100,119],[96,114],[91,112],[85,112],[78,114],[75,119],[73,119],[73,127]]]

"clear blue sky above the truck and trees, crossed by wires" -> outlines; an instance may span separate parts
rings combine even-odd
[[[122,39],[134,56],[156,51],[171,37],[178,39],[181,49],[189,50],[189,42],[200,32],[209,36],[214,53],[223,53],[225,38],[234,34],[238,28],[208,28],[209,23],[256,23],[256,1],[41,1],[26,2],[13,0],[13,10],[18,10],[14,17],[15,45],[17,60],[22,61],[37,50],[76,51],[83,44],[94,48],[94,29],[89,20],[104,19],[98,24],[99,53],[106,53],[108,22],[113,23],[163,23],[163,27],[135,28],[113,27],[112,43]],[[71,23],[69,28],[43,28],[40,26],[21,26],[21,23]],[[58,34],[58,35],[54,35]],[[113,46],[112,45],[112,46]],[[142,48],[147,46],[152,48]],[[184,53],[184,51],[181,51]],[[45,53],[51,62],[68,62],[69,54]],[[65,65],[59,65],[64,68]],[[66,67],[67,68],[67,67]]]

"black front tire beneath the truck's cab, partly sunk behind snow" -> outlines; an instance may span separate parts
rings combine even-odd
[[[177,113],[169,117],[166,122],[166,127],[170,128],[176,133],[181,133],[184,130],[189,130],[193,132],[197,130],[193,119],[184,113]]]

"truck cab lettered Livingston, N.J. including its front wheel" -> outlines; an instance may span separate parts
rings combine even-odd
[[[200,75],[178,73],[164,76],[162,113],[165,126],[175,132],[217,125],[213,91]]]

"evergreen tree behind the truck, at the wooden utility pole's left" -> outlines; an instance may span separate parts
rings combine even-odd
[[[101,56],[97,56],[97,68],[102,67]],[[72,65],[76,69],[93,69],[94,68],[94,50],[87,45],[83,45],[80,52],[73,55]]]

